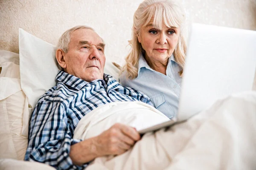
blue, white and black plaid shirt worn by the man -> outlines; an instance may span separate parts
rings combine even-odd
[[[69,157],[79,120],[93,109],[111,102],[142,101],[154,104],[139,91],[122,87],[112,76],[86,82],[59,71],[57,85],[47,91],[32,112],[25,160],[49,164],[57,169],[83,169]]]

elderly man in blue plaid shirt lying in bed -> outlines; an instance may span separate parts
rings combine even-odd
[[[117,101],[153,105],[144,94],[122,87],[104,74],[104,47],[102,38],[87,26],[76,26],[62,34],[56,59],[64,71],[58,72],[57,85],[35,106],[25,160],[58,169],[81,169],[96,157],[124,153],[140,139],[135,128],[122,124],[84,141],[73,139],[79,120],[101,105]]]

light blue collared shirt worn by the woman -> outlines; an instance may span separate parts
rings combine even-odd
[[[172,119],[175,118],[178,110],[182,80],[178,73],[180,70],[173,54],[168,60],[166,75],[150,68],[141,55],[138,64],[138,77],[133,80],[127,79],[125,71],[120,75],[119,82],[122,86],[135,88],[146,94],[157,110]]]

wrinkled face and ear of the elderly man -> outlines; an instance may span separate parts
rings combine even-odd
[[[87,82],[103,79],[105,54],[102,39],[96,32],[81,28],[70,36],[68,52],[64,54],[64,71]]]

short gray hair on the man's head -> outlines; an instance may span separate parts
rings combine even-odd
[[[82,29],[82,28],[90,29],[90,30],[93,30],[93,31],[94,31],[94,29],[91,28],[91,27],[89,27],[89,26],[75,26],[75,27],[73,27],[73,28],[70,28],[70,29],[68,29],[67,31],[65,31],[65,32],[61,35],[60,39],[58,40],[57,49],[58,49],[58,48],[61,48],[61,49],[64,51],[64,53],[67,53],[67,51],[68,51],[68,45],[69,45],[69,43],[70,43],[70,36],[71,36],[71,34],[72,34],[74,31],[76,31],[76,30],[78,30],[78,29]],[[103,42],[103,40],[102,40],[102,42]]]

